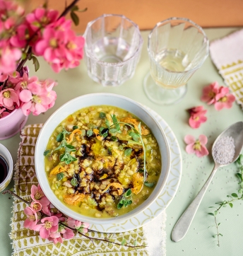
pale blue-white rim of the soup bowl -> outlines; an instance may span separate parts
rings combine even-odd
[[[130,103],[136,105],[137,107],[141,108],[143,110],[143,112],[146,112],[146,115],[149,115],[153,121],[157,124],[157,127],[158,129],[160,130],[160,134],[162,135],[163,137],[163,141],[165,141],[165,147],[166,147],[166,155],[167,155],[167,167],[166,167],[166,172],[165,172],[165,178],[162,180],[162,185],[160,186],[160,188],[158,189],[158,191],[153,194],[153,199],[150,199],[150,202],[147,202],[146,204],[146,201],[143,202],[142,204],[140,204],[138,207],[136,207],[134,210],[130,211],[129,213],[126,213],[126,214],[122,214],[121,216],[118,216],[118,217],[114,217],[114,218],[104,218],[104,219],[98,219],[98,218],[93,218],[93,217],[89,217],[89,216],[85,216],[85,215],[82,215],[82,214],[78,214],[76,211],[73,211],[72,209],[70,209],[68,206],[66,206],[63,202],[61,202],[57,196],[54,194],[54,197],[56,197],[55,201],[52,201],[50,200],[49,198],[49,194],[47,192],[45,192],[45,186],[42,186],[43,185],[43,177],[44,176],[45,178],[45,182],[48,182],[47,180],[47,175],[46,175],[46,172],[45,170],[39,170],[38,168],[38,165],[37,165],[37,156],[43,156],[43,152],[39,152],[38,150],[38,145],[41,143],[41,139],[42,139],[42,136],[45,136],[44,132],[45,132],[45,129],[46,127],[48,127],[48,124],[49,122],[52,122],[52,118],[54,117],[54,115],[57,115],[57,113],[61,112],[61,110],[65,109],[66,106],[68,106],[69,104],[71,104],[71,102],[75,101],[75,100],[79,100],[79,99],[83,99],[83,98],[88,98],[88,97],[94,97],[94,96],[108,96],[108,97],[117,97],[117,98],[121,98],[123,100],[127,100],[129,101]],[[95,105],[95,103],[91,103],[91,105]],[[104,104],[105,105],[105,104]],[[108,104],[109,105],[109,104]],[[88,107],[89,105],[87,105],[86,107]],[[83,108],[83,107],[82,107]],[[122,108],[122,107],[121,107]],[[125,108],[123,108],[125,109]],[[125,109],[126,110],[126,109]],[[76,110],[78,111],[78,109]],[[128,110],[129,111],[129,110]],[[131,112],[131,111],[129,111]],[[71,113],[69,113],[70,115]],[[68,116],[68,115],[67,115]],[[64,117],[66,118],[66,117]],[[63,120],[64,120],[63,118]],[[61,120],[62,121],[62,120]],[[61,122],[60,121],[60,122]],[[43,135],[44,134],[44,135]],[[155,134],[154,134],[155,136]],[[160,135],[159,135],[160,136]],[[156,137],[155,137],[156,138]],[[160,150],[161,152],[161,150]],[[41,154],[40,154],[41,153]],[[38,160],[40,161],[40,160]],[[43,159],[42,161],[44,161],[44,156],[43,156]],[[59,209],[59,206],[56,202],[60,202],[63,206],[62,209],[59,209],[59,211],[61,211],[63,214],[66,214],[66,216],[69,216],[73,219],[77,219],[77,216],[78,215],[78,218],[79,216],[81,216],[81,218],[79,218],[78,220],[81,220],[83,222],[88,222],[88,223],[93,223],[93,224],[105,224],[105,223],[112,223],[114,221],[125,221],[127,219],[130,219],[131,217],[133,216],[136,216],[136,214],[138,214],[138,212],[141,212],[141,211],[144,211],[145,209],[147,209],[150,204],[152,204],[157,198],[158,196],[160,195],[162,189],[165,187],[165,184],[166,184],[166,181],[167,181],[167,178],[169,176],[169,173],[170,173],[170,165],[171,165],[171,159],[170,159],[170,146],[168,144],[168,141],[167,141],[167,138],[165,136],[165,132],[163,131],[162,127],[160,127],[160,124],[158,123],[158,121],[155,119],[155,117],[153,117],[153,115],[151,115],[151,113],[145,108],[143,107],[143,105],[141,105],[141,103],[138,103],[136,102],[135,100],[132,100],[130,98],[127,98],[123,95],[117,95],[117,94],[114,94],[114,93],[88,93],[88,94],[85,94],[85,95],[81,95],[81,96],[78,96],[76,98],[73,98],[71,100],[69,100],[68,102],[64,103],[64,105],[61,105],[61,107],[59,107],[48,119],[47,121],[45,122],[45,124],[43,125],[42,129],[40,130],[40,134],[38,135],[37,137],[37,141],[36,141],[36,144],[35,144],[35,172],[36,172],[36,175],[37,175],[37,180],[39,182],[39,185],[40,187],[42,188],[44,194],[46,195],[47,199],[49,199],[49,201],[51,202],[51,204],[53,204],[53,206],[55,206],[57,209]],[[41,173],[43,174],[44,172],[44,175],[41,175]],[[159,178],[160,179],[160,178]],[[48,182],[49,183],[49,182]],[[44,187],[44,189],[43,189]],[[155,186],[156,187],[156,186]],[[154,191],[153,191],[154,192]],[[152,192],[152,193],[153,193]],[[150,194],[151,196],[151,194]],[[139,210],[138,210],[139,209]]]

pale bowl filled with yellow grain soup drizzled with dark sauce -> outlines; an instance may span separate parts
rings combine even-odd
[[[134,100],[109,93],[75,98],[49,117],[35,149],[43,192],[89,223],[131,218],[160,194],[170,150],[158,122]]]

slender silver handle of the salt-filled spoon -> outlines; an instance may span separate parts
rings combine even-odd
[[[191,222],[194,219],[198,206],[201,203],[201,200],[203,199],[203,196],[209,184],[211,183],[211,180],[213,179],[213,176],[215,175],[218,167],[218,165],[214,166],[211,175],[208,177],[208,180],[203,185],[200,192],[198,192],[195,199],[191,202],[191,204],[184,211],[184,213],[179,218],[177,223],[174,225],[174,228],[172,230],[172,240],[174,242],[179,242],[180,240],[182,240],[182,238],[184,238],[184,236],[186,235],[186,232],[189,230],[189,226],[191,225]]]

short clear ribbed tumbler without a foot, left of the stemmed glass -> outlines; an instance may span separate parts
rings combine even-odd
[[[119,86],[134,76],[143,38],[133,21],[104,14],[88,23],[83,36],[90,78],[102,86]]]

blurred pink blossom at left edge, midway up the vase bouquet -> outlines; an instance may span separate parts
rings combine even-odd
[[[0,40],[0,74],[8,74],[16,70],[17,61],[22,56],[21,50],[10,47],[6,41]]]

